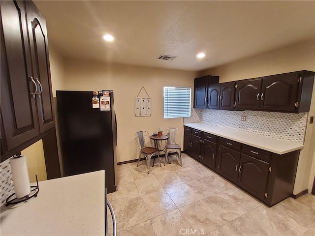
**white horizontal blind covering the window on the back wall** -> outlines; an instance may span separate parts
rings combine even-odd
[[[190,117],[191,88],[164,87],[164,118]]]

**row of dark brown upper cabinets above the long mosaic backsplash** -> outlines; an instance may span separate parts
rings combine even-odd
[[[308,112],[314,76],[303,70],[222,84],[203,76],[195,79],[194,108]]]

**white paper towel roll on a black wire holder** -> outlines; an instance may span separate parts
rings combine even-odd
[[[26,156],[12,157],[10,159],[10,166],[15,196],[22,198],[31,192]]]

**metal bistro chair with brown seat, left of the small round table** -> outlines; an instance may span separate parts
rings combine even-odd
[[[150,163],[151,163],[151,157],[153,155],[158,155],[159,166],[161,166],[158,148],[152,147],[152,140],[151,140],[150,135],[147,131],[137,132],[134,135],[134,138],[135,138],[136,143],[138,145],[138,148],[140,150],[137,166],[139,165],[141,154],[144,155],[147,159],[148,174],[150,174]]]

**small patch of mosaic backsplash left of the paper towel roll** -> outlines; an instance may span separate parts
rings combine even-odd
[[[12,172],[10,167],[10,159],[7,159],[0,163],[0,195],[1,195],[1,205],[5,203],[5,200],[8,196],[14,193],[14,186],[13,186],[13,178]]]

